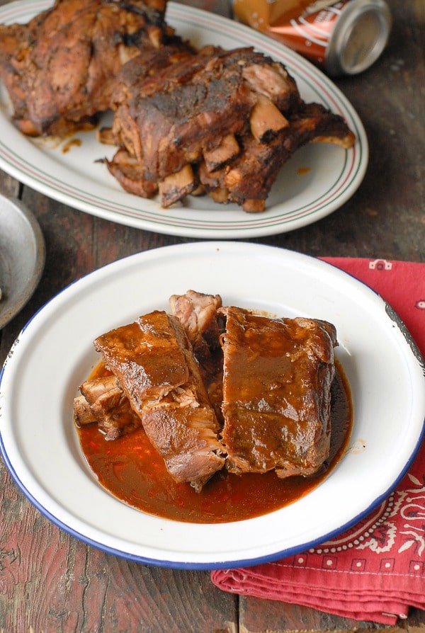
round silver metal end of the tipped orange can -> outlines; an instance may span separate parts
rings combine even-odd
[[[329,74],[357,74],[370,67],[387,45],[392,18],[383,0],[351,0],[337,21],[327,49]]]

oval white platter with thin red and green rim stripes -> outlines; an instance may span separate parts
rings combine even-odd
[[[0,7],[0,23],[26,23],[50,5],[50,0],[12,2]],[[106,166],[96,162],[111,159],[115,150],[98,143],[94,131],[74,135],[80,147],[69,138],[53,142],[18,132],[0,85],[1,169],[50,198],[92,215],[158,233],[207,239],[292,231],[329,215],[351,198],[365,175],[368,140],[353,106],[327,76],[276,40],[214,13],[171,2],[166,21],[196,46],[251,45],[285,64],[305,101],[322,103],[346,119],[357,139],[353,149],[313,143],[297,151],[281,169],[263,213],[219,205],[208,196],[188,196],[185,205],[164,210],[156,199],[126,193]],[[108,120],[106,116],[102,125]]]

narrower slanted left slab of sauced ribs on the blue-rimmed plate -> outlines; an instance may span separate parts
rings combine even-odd
[[[202,489],[224,465],[218,423],[179,319],[154,311],[94,341],[171,477]]]

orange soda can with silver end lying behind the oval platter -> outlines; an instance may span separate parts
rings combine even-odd
[[[333,76],[370,67],[390,35],[385,0],[234,0],[234,17],[293,48]]]

